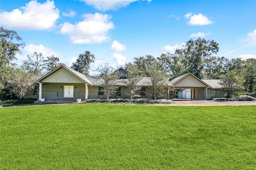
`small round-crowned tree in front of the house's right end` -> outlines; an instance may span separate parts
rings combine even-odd
[[[229,71],[226,75],[221,76],[220,85],[222,85],[224,91],[226,92],[226,97],[230,98],[240,87],[240,80],[236,76],[236,72]]]

